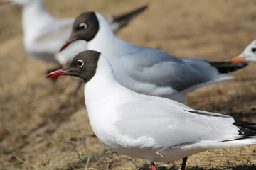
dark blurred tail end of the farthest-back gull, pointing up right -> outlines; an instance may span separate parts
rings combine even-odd
[[[133,18],[144,11],[147,7],[148,5],[144,5],[126,13],[121,13],[119,15],[109,15],[106,16],[106,19],[110,23],[113,32],[117,33],[117,31],[119,31],[124,26],[127,26],[127,24],[132,21]]]

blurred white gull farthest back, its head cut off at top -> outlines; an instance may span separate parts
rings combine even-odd
[[[73,59],[74,54],[85,50],[86,42],[81,40],[68,50],[59,52],[61,45],[67,40],[71,32],[75,18],[54,18],[46,11],[43,0],[9,1],[23,6],[23,44],[29,54],[46,62],[58,62],[65,65]],[[144,11],[146,7],[142,6],[116,16],[107,16],[112,30],[116,33],[120,28],[126,26],[134,16]]]

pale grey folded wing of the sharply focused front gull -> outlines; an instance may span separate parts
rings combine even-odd
[[[220,140],[238,136],[232,117],[195,111],[166,98],[137,96],[135,100],[118,106],[116,112],[119,119],[114,125],[123,135],[133,140],[139,137],[153,139],[155,145],[148,147],[154,149],[207,140],[215,141],[217,147]]]

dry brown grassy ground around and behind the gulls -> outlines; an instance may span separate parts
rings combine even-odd
[[[118,37],[178,57],[229,60],[255,39],[256,3],[252,0],[59,3],[46,1],[48,11],[57,18],[92,10],[119,13],[149,4]],[[90,128],[82,88],[75,96],[67,96],[63,91],[74,78],[63,77],[58,86],[45,79],[46,70],[55,64],[38,61],[23,50],[19,6],[0,6],[0,16],[0,169],[149,169],[143,159],[113,153],[92,157],[108,149]],[[189,93],[186,104],[256,122],[255,64],[233,75],[235,79]],[[256,169],[255,151],[255,146],[210,150],[189,157],[187,169]],[[180,164],[157,166],[180,169]]]

